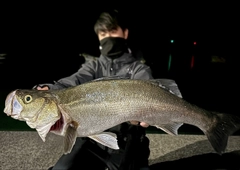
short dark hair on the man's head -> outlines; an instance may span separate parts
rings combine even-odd
[[[96,34],[115,30],[118,27],[124,31],[127,28],[127,22],[124,16],[118,10],[108,10],[102,12],[94,25]]]

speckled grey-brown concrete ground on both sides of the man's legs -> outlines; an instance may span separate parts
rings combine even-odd
[[[152,169],[240,169],[240,136],[230,136],[226,153],[218,155],[204,135],[147,134]],[[59,159],[62,137],[35,131],[0,131],[0,170],[47,170]]]

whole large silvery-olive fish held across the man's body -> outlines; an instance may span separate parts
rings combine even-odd
[[[183,124],[196,126],[219,154],[240,128],[239,117],[191,104],[171,83],[167,87],[159,80],[104,78],[61,90],[17,89],[7,96],[4,112],[26,121],[43,141],[49,132],[64,136],[65,154],[76,137],[118,149],[116,135],[104,131],[127,121],[146,122],[171,135]]]

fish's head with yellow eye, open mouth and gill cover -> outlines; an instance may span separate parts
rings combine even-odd
[[[21,90],[10,92],[5,100],[4,113],[14,119],[26,121],[45,141],[51,127],[61,118],[57,101],[48,91]]]

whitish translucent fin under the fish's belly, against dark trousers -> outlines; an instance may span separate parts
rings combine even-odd
[[[111,132],[103,132],[97,135],[88,136],[89,138],[112,149],[119,149],[117,135]]]

